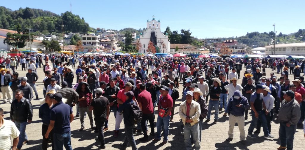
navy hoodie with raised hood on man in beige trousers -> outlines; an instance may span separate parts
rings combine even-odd
[[[239,96],[239,99],[234,98],[234,96]],[[242,104],[241,107],[237,107],[236,105]],[[249,103],[246,97],[242,96],[242,92],[236,90],[233,96],[230,98],[227,112],[228,114],[233,114],[234,116],[243,116],[245,113],[245,109],[249,108]]]

